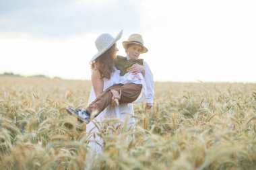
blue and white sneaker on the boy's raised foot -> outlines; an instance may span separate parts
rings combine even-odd
[[[86,110],[83,110],[83,109],[75,110],[72,107],[67,107],[66,111],[71,116],[75,116],[75,118],[77,118],[79,122],[84,122],[84,121],[86,121],[87,123],[90,122],[90,114],[88,114]]]

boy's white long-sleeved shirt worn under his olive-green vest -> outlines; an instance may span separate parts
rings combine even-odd
[[[130,59],[129,56],[126,56],[127,60]],[[148,63],[143,60],[143,66],[145,67],[145,76],[144,80],[147,87],[147,95],[146,95],[146,103],[153,103],[153,97],[154,97],[154,77],[153,73],[150,70],[150,67],[148,66]]]

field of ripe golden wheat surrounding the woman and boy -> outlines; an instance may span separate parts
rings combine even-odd
[[[88,159],[90,81],[0,77],[0,169],[255,169],[256,84],[156,82],[154,107],[135,104],[135,131],[106,120]]]

